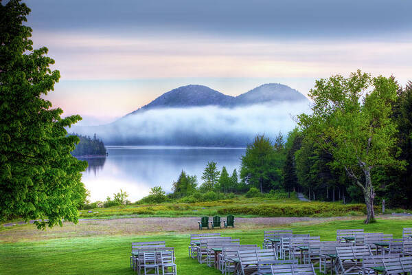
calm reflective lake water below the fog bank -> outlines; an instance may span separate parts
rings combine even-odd
[[[120,189],[137,201],[149,194],[153,186],[170,192],[172,182],[185,170],[190,175],[201,175],[207,162],[214,161],[218,169],[226,166],[229,174],[240,166],[244,148],[194,148],[161,146],[106,146],[108,157],[87,159],[89,168],[82,181],[90,191],[91,201],[104,201]]]

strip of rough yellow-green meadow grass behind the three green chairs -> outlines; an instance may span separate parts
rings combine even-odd
[[[377,209],[378,210],[378,209]],[[299,201],[271,197],[236,197],[221,201],[200,203],[161,203],[153,205],[127,205],[111,208],[80,210],[80,218],[120,216],[137,217],[193,217],[236,214],[236,217],[336,217],[360,215],[365,204],[342,204],[323,201]]]

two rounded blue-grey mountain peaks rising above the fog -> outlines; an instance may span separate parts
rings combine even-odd
[[[251,89],[240,96],[227,96],[203,85],[187,85],[172,89],[130,114],[159,108],[185,108],[202,106],[238,107],[266,102],[307,102],[299,91],[280,83],[268,83]]]

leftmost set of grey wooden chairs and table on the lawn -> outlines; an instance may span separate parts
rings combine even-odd
[[[130,267],[137,273],[176,275],[174,248],[165,241],[132,243]]]

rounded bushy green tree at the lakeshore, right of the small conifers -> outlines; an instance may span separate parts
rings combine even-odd
[[[260,192],[279,188],[284,166],[283,137],[279,134],[275,146],[264,135],[255,137],[242,156],[240,177],[242,180],[260,189]]]

